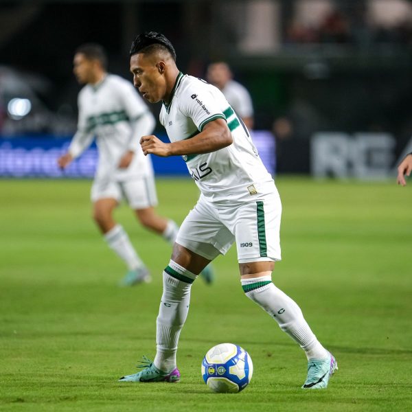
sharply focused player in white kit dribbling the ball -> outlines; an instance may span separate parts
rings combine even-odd
[[[304,350],[308,358],[305,389],[328,386],[337,368],[319,343],[295,301],[271,281],[280,260],[279,194],[225,96],[211,84],[183,75],[176,53],[163,34],[146,32],[130,49],[130,71],[149,102],[163,102],[160,119],[170,144],[154,135],[141,138],[145,155],[181,155],[201,190],[194,209],[179,229],[172,259],[163,271],[163,295],[157,317],[155,361],[123,376],[124,382],[176,382],[179,335],[198,273],[236,242],[244,293],[261,306]]]

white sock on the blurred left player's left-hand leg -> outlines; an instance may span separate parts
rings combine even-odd
[[[129,271],[144,267],[144,263],[141,262],[122,225],[116,225],[105,233],[104,239],[108,246],[126,263]]]

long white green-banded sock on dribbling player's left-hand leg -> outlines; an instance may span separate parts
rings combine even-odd
[[[156,325],[155,366],[170,372],[176,367],[177,343],[189,312],[190,288],[196,275],[170,260],[163,271],[163,295]]]

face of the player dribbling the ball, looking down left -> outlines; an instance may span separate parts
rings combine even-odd
[[[159,69],[156,56],[133,54],[130,57],[130,71],[133,84],[139,93],[150,103],[157,103],[165,98],[166,80]]]

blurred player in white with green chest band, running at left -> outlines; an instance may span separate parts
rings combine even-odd
[[[69,150],[58,159],[66,168],[96,139],[99,163],[91,187],[93,218],[107,244],[128,267],[123,286],[148,282],[150,275],[113,211],[122,198],[135,211],[141,225],[174,242],[179,227],[156,214],[157,194],[150,159],[139,140],[152,133],[155,117],[133,85],[106,71],[106,54],[100,45],[76,50],[73,71],[80,84],[78,130]]]

